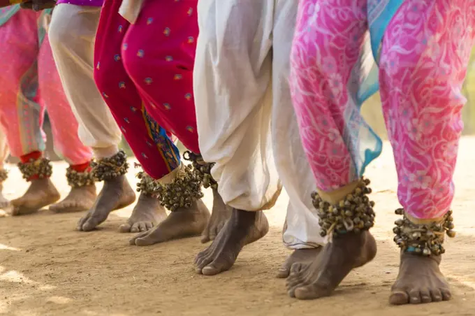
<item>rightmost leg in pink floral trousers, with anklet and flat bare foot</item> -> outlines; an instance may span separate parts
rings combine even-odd
[[[439,264],[444,234],[455,235],[449,210],[474,27],[470,1],[409,0],[384,34],[381,101],[399,181],[397,214],[403,216],[394,229],[401,257],[392,304],[451,298]]]

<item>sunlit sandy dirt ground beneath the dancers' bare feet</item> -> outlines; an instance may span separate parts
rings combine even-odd
[[[80,214],[0,218],[0,315],[475,315],[475,138],[463,138],[455,175],[453,209],[458,238],[448,240],[442,268],[455,299],[424,306],[388,306],[398,255],[391,230],[398,203],[392,153],[385,144],[367,171],[377,202],[376,259],[354,271],[335,295],[297,301],[274,278],[289,253],[281,241],[288,198],[266,214],[268,236],[244,248],[235,266],[216,277],[196,275],[199,238],[150,247],[129,246],[119,234],[131,208],[110,215],[92,233],[74,230]],[[54,182],[66,194],[65,164],[54,163]],[[133,174],[130,173],[130,180]],[[11,168],[6,196],[27,188]],[[206,202],[210,206],[210,192]]]

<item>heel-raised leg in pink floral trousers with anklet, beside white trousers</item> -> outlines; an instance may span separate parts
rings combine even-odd
[[[366,0],[342,6],[318,0],[299,3],[291,52],[291,92],[302,145],[314,173],[321,236],[329,235],[310,264],[294,264],[287,279],[290,296],[330,295],[353,269],[373,259],[376,243],[371,191],[360,179],[370,148],[360,134],[370,129],[356,98],[358,59],[367,35]],[[359,79],[359,78],[358,78]],[[363,135],[365,135],[363,134]],[[374,158],[374,157],[372,157]]]

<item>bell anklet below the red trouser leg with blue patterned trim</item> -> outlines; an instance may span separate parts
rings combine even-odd
[[[203,198],[201,178],[193,172],[192,166],[184,166],[177,171],[175,178],[168,184],[156,183],[154,195],[162,206],[170,211],[178,208],[190,208],[191,203]]]

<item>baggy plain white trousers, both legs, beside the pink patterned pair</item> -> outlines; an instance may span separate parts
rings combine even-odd
[[[282,180],[293,249],[323,245],[288,87],[296,13],[295,0],[200,0],[193,74],[200,151],[216,163],[219,194],[233,208],[265,210]]]

